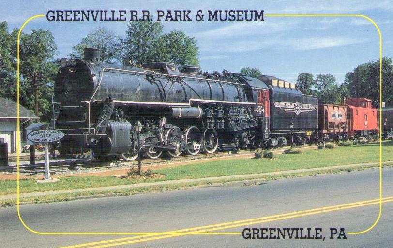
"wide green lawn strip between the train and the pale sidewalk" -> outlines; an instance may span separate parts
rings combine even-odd
[[[383,161],[393,160],[393,141],[383,143]],[[153,173],[166,175],[155,179],[120,179],[106,177],[63,177],[59,182],[38,184],[32,179],[20,180],[20,193],[135,184],[187,178],[255,174],[294,169],[316,168],[379,161],[379,144],[340,146],[334,149],[308,150],[301,154],[275,154],[273,159],[216,160],[166,169]],[[16,181],[0,181],[1,194],[16,194]]]

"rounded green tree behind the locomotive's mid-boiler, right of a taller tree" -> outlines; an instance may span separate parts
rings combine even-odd
[[[194,37],[183,31],[171,31],[162,35],[152,46],[151,60],[169,61],[183,65],[199,65],[199,48]]]

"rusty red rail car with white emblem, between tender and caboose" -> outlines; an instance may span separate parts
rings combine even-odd
[[[345,139],[348,132],[347,106],[320,104],[318,106],[319,135],[327,139]]]

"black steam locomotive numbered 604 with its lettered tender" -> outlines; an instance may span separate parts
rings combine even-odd
[[[65,58],[55,80],[52,128],[63,131],[60,156],[149,158],[163,152],[239,150],[305,143],[317,134],[317,98],[275,77],[200,73],[194,66],[141,67]],[[140,143],[137,142],[137,132]],[[293,134],[293,136],[291,135]]]

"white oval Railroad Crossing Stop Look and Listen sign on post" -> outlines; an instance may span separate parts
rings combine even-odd
[[[33,144],[45,144],[45,180],[50,180],[49,171],[49,143],[53,143],[61,140],[64,137],[64,133],[54,129],[41,129],[32,131],[27,134],[27,139]]]

